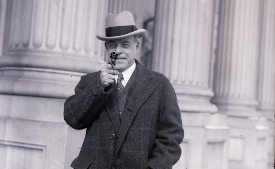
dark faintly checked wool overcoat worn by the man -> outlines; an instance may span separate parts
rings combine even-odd
[[[184,131],[175,91],[164,75],[136,63],[121,123],[116,84],[103,91],[100,71],[82,76],[65,101],[65,121],[87,128],[71,167],[171,169],[178,161]]]

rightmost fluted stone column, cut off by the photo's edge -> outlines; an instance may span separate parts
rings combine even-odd
[[[259,66],[259,86],[257,100],[259,105],[258,111],[261,113],[261,123],[268,128],[268,137],[262,139],[267,144],[264,153],[260,156],[264,157],[265,168],[274,166],[274,58],[275,58],[275,2],[272,0],[264,0],[261,2],[261,48],[258,62]],[[262,133],[262,129],[258,128],[258,133]]]

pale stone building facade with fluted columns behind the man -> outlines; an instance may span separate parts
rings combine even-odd
[[[151,29],[138,60],[177,94],[185,136],[173,169],[274,166],[275,1],[0,0],[0,10],[4,168],[70,168],[85,130],[65,123],[64,101],[106,63],[96,35],[123,10]]]

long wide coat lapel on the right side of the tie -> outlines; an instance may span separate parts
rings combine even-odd
[[[123,118],[121,120],[118,140],[115,148],[115,156],[124,141],[125,135],[128,129],[138,113],[139,108],[148,99],[148,97],[153,93],[156,88],[155,80],[153,79],[152,73],[150,73],[146,68],[144,68],[139,62],[137,62],[136,75],[133,81],[133,85],[128,92],[128,97],[123,113]]]

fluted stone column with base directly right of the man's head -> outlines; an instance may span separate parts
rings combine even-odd
[[[216,106],[209,102],[213,97],[209,74],[216,3],[161,1],[157,4],[153,70],[171,81],[182,111],[217,112]]]

